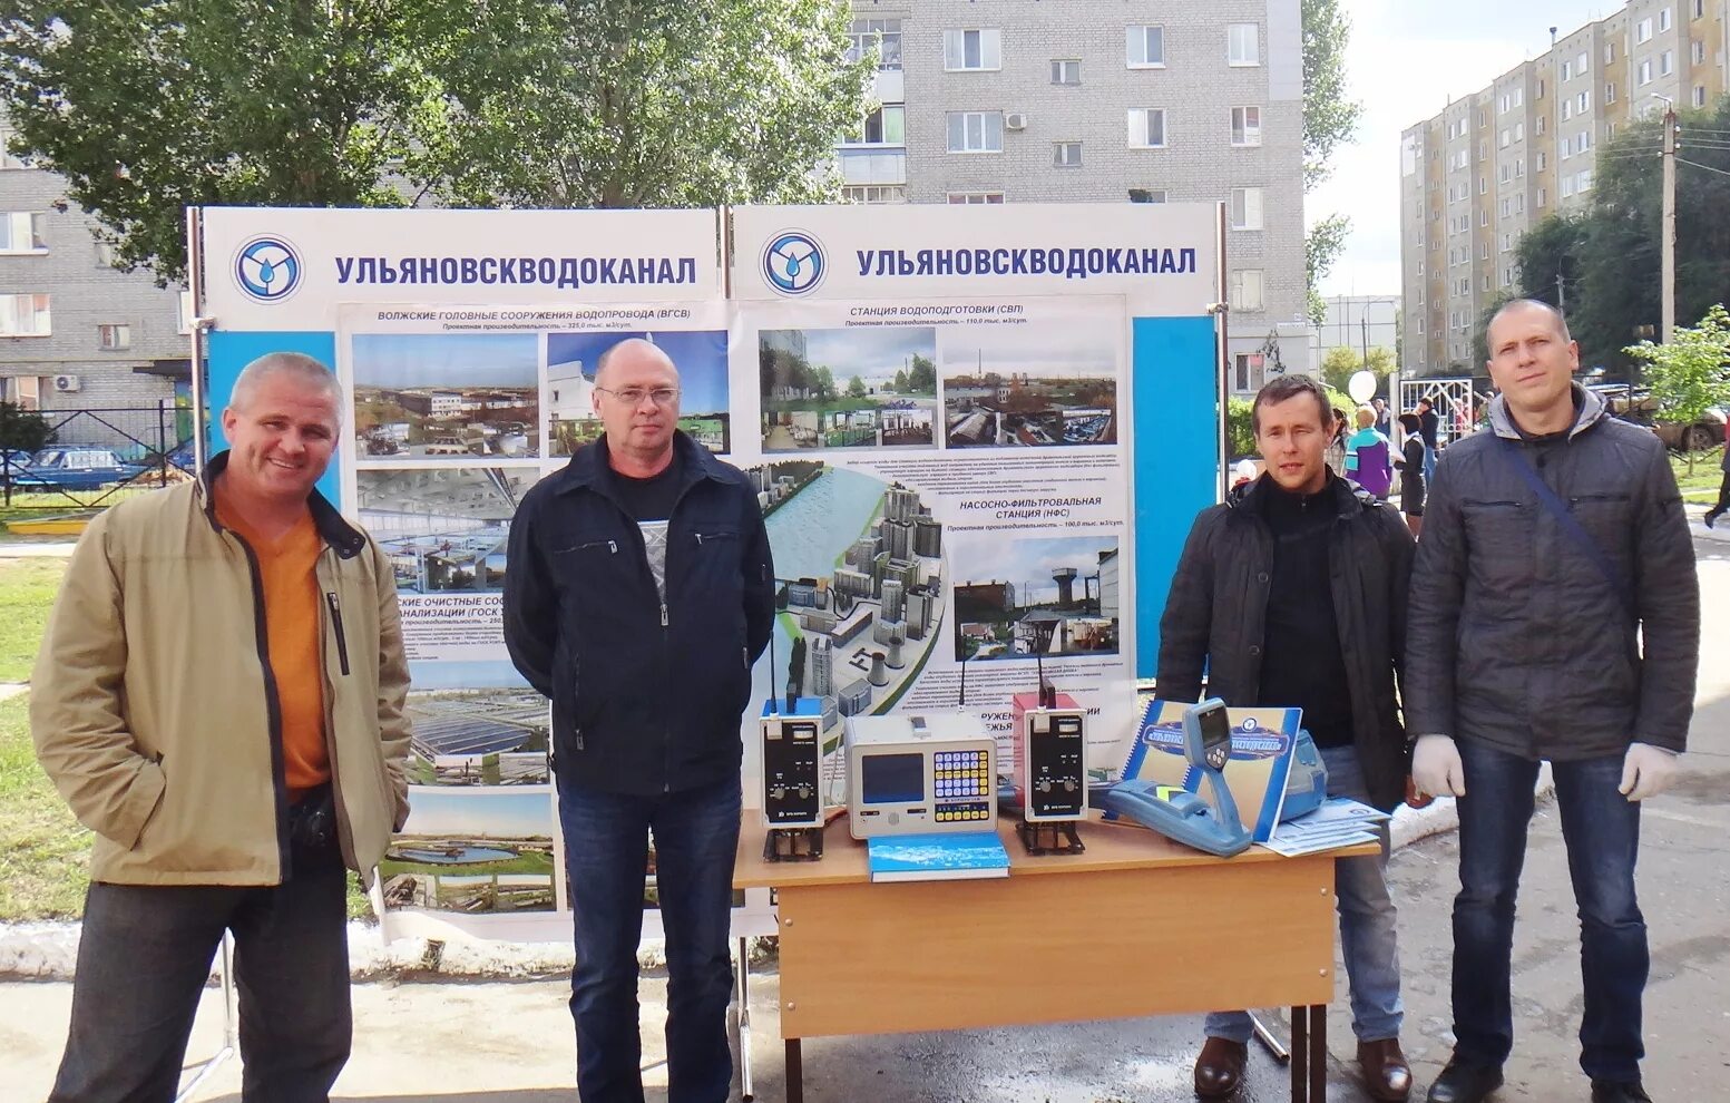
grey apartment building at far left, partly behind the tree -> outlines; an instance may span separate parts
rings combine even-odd
[[[10,137],[0,126],[0,397],[40,410],[173,400],[190,379],[190,294],[114,268],[95,218],[61,177],[5,152]],[[95,421],[66,435],[125,442]]]

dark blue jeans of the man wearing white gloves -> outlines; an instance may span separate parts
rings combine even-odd
[[[1538,764],[1460,739],[1460,895],[1453,900],[1453,1034],[1464,1060],[1500,1067],[1514,1048],[1510,958],[1514,897],[1526,861]],[[1585,1016],[1579,1067],[1590,1077],[1640,1077],[1640,997],[1649,970],[1635,902],[1640,805],[1616,791],[1623,755],[1554,762],[1567,871],[1579,909]]]

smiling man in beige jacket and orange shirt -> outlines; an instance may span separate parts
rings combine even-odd
[[[73,552],[29,701],[95,833],[50,1103],[173,1100],[225,930],[242,1098],[327,1100],[348,1060],[346,869],[408,814],[408,668],[389,559],[313,488],[341,405],[311,357],[254,360],[230,448]]]

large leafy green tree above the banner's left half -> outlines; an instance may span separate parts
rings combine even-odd
[[[0,113],[121,267],[187,206],[822,201],[844,0],[12,0]]]

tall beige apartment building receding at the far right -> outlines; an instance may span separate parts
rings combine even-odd
[[[1477,371],[1484,310],[1521,286],[1521,235],[1592,201],[1599,147],[1631,119],[1725,95],[1727,35],[1730,0],[1630,0],[1401,133],[1408,372]]]

